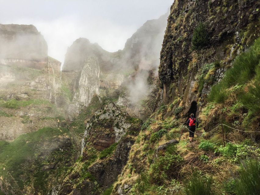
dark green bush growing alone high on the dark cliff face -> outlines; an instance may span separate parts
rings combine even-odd
[[[208,32],[205,27],[205,24],[203,23],[198,23],[197,27],[195,27],[193,31],[193,36],[192,36],[192,45],[193,49],[201,49],[205,46],[208,45]]]

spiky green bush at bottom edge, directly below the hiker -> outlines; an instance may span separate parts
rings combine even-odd
[[[186,195],[213,195],[211,190],[212,178],[200,176],[198,172],[193,172],[191,179],[187,182]]]

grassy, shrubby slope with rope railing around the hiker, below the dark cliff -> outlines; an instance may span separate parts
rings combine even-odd
[[[194,142],[179,112],[162,117],[172,104],[144,122],[112,194],[258,194],[259,47],[260,38],[212,87]]]

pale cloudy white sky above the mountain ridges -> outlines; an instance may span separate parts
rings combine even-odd
[[[48,55],[64,61],[79,37],[107,51],[123,49],[148,19],[165,14],[173,0],[0,0],[0,23],[33,24],[48,43]]]

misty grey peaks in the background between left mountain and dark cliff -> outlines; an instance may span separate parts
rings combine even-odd
[[[123,50],[113,53],[103,50],[98,44],[90,43],[86,38],[73,42],[62,66],[62,80],[67,83],[74,96],[67,111],[71,120],[79,113],[79,105],[87,105],[86,102],[93,96],[92,92],[84,90],[90,86],[84,86],[81,82],[85,77],[91,76],[84,70],[89,57],[96,58],[100,67],[99,90],[94,89],[96,82],[91,84],[93,89],[90,90],[105,97],[111,90],[120,91],[126,88],[124,96],[127,112],[141,117],[142,108],[137,106],[137,102],[147,98],[155,87],[166,19],[167,14],[159,19],[148,20],[126,41]],[[88,97],[83,97],[84,93]]]

